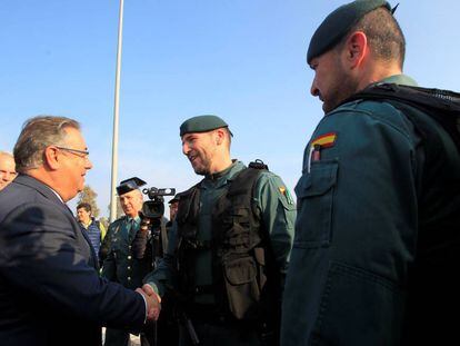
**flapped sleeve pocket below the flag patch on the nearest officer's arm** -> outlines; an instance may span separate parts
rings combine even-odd
[[[319,161],[311,165],[296,186],[298,215],[294,247],[327,247],[331,240],[333,192],[339,162]]]

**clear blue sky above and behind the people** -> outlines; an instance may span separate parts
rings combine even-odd
[[[309,95],[311,34],[346,1],[126,0],[119,180],[184,190],[197,182],[179,126],[216,113],[234,134],[232,157],[262,159],[292,190],[322,117]],[[392,6],[396,2],[391,2]],[[59,115],[82,123],[94,168],[87,184],[110,199],[118,0],[1,0],[0,150],[22,123]],[[459,90],[460,1],[401,0],[406,73]],[[74,207],[73,204],[70,204]]]

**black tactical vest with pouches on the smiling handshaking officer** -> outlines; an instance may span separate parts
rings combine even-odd
[[[268,231],[252,201],[256,182],[266,169],[263,164],[251,162],[231,180],[213,209],[211,241],[197,238],[200,184],[180,195],[176,218],[179,289],[191,300],[200,293],[213,294],[218,310],[237,319],[274,316],[279,309],[280,275]],[[212,253],[210,287],[194,285],[194,258],[200,250]]]

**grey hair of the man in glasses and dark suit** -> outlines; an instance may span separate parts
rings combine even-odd
[[[66,128],[80,130],[80,123],[73,119],[53,116],[38,116],[22,126],[21,134],[14,145],[16,169],[19,172],[43,165],[43,152],[49,146],[62,146]]]

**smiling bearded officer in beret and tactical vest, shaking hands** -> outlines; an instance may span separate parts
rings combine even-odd
[[[188,119],[180,136],[204,178],[180,194],[168,254],[146,281],[160,295],[173,287],[184,313],[180,345],[278,345],[293,200],[262,162],[231,159],[221,118]]]

